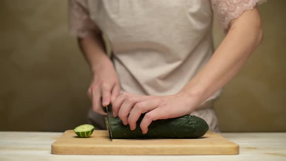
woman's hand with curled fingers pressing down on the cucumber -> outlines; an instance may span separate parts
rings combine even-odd
[[[194,110],[195,98],[178,93],[172,96],[141,96],[122,93],[112,105],[113,116],[122,120],[130,129],[136,128],[136,122],[142,113],[146,113],[140,123],[142,133],[148,131],[152,121],[175,118],[190,114]]]

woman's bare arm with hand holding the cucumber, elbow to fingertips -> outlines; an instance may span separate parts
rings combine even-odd
[[[190,114],[238,73],[262,41],[262,35],[257,9],[245,11],[231,21],[229,32],[209,62],[179,93],[172,96],[123,93],[112,106],[113,116],[119,116],[133,130],[141,113],[146,113],[140,123],[146,133],[152,121]]]

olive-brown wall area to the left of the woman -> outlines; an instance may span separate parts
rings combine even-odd
[[[85,123],[90,73],[67,30],[67,0],[0,3],[0,130]]]

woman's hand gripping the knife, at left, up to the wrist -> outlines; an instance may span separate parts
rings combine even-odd
[[[106,57],[106,59],[100,61],[100,64],[97,64],[93,69],[93,80],[87,94],[92,100],[93,111],[103,115],[106,115],[106,113],[103,111],[102,106],[113,104],[119,96],[120,83],[109,58]]]

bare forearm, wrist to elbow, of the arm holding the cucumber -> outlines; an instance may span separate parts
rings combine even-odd
[[[244,12],[230,25],[229,32],[209,62],[180,92],[196,96],[197,105],[230,81],[262,41],[261,21],[256,8]]]

